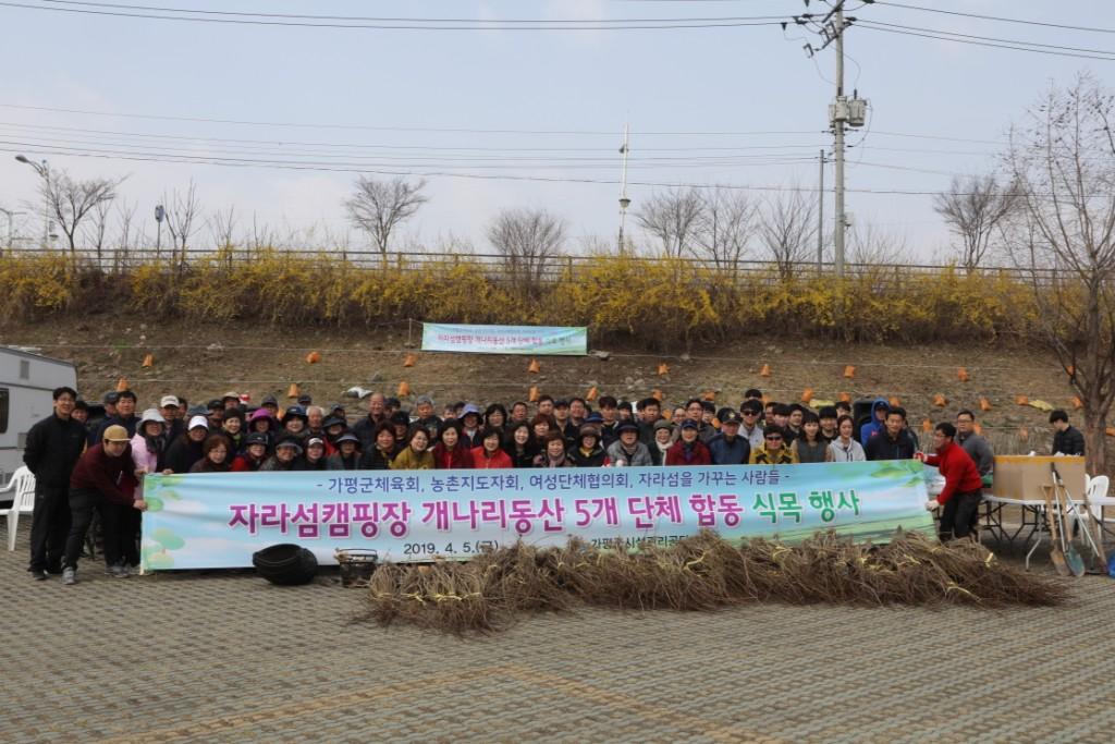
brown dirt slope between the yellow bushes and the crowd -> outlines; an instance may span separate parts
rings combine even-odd
[[[590,341],[592,339],[590,338]],[[860,396],[896,396],[920,429],[924,418],[951,419],[961,407],[979,412],[986,397],[991,410],[980,422],[1000,453],[1025,452],[1048,446],[1046,414],[1015,403],[1017,395],[1046,400],[1072,412],[1073,392],[1055,360],[1041,350],[1027,348],[968,349],[954,346],[869,346],[794,340],[776,344],[764,338],[697,348],[692,357],[648,354],[644,349],[605,345],[608,359],[589,357],[540,358],[542,370],[526,371],[529,359],[514,356],[423,354],[418,351],[420,327],[410,334],[363,329],[251,329],[205,328],[186,323],[148,325],[122,317],[108,323],[42,322],[7,328],[0,342],[30,346],[43,354],[69,359],[78,367],[81,393],[99,398],[128,379],[140,398],[140,407],[164,393],[201,402],[234,389],[253,400],[272,393],[285,399],[293,383],[316,402],[343,398],[359,385],[394,394],[406,380],[414,395],[428,393],[438,404],[457,399],[525,399],[531,386],[555,397],[584,395],[597,386],[600,394],[638,399],[660,389],[667,402],[683,400],[705,390],[717,393],[718,405],[738,406],[743,390],[755,386],[773,398],[798,400],[805,388],[815,398],[834,399],[840,392]],[[310,365],[311,350],[321,355]],[[416,364],[403,365],[407,354]],[[145,355],[154,366],[143,368]],[[659,376],[658,365],[669,365]],[[769,365],[770,376],[759,370]],[[846,365],[855,366],[853,379],[843,377]],[[969,380],[958,379],[958,367]],[[948,404],[933,405],[944,395]],[[351,407],[355,400],[346,399]],[[407,404],[409,405],[409,404]],[[1020,429],[1025,428],[1025,436]]]

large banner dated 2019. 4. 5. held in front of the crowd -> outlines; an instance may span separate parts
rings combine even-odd
[[[467,559],[517,540],[669,545],[704,529],[727,540],[801,541],[835,529],[885,541],[935,534],[917,461],[495,471],[323,471],[148,475],[144,570],[241,568],[278,543],[336,563]]]

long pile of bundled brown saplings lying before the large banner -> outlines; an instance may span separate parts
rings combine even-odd
[[[833,532],[784,545],[738,545],[702,532],[669,548],[597,549],[581,540],[535,549],[518,543],[467,562],[385,563],[371,578],[369,617],[447,632],[492,631],[531,612],[579,605],[715,610],[744,602],[860,606],[944,603],[1049,606],[1067,589],[998,561],[976,543],[920,534],[861,544]]]

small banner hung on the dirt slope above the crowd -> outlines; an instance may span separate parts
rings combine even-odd
[[[564,326],[421,325],[423,351],[584,356],[589,329]]]

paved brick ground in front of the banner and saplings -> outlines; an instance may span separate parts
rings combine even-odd
[[[22,532],[22,531],[21,531]],[[584,610],[462,640],[250,573],[32,582],[0,553],[0,742],[1108,742],[1115,581],[1059,609]],[[1045,560],[1040,563],[1044,566]]]

